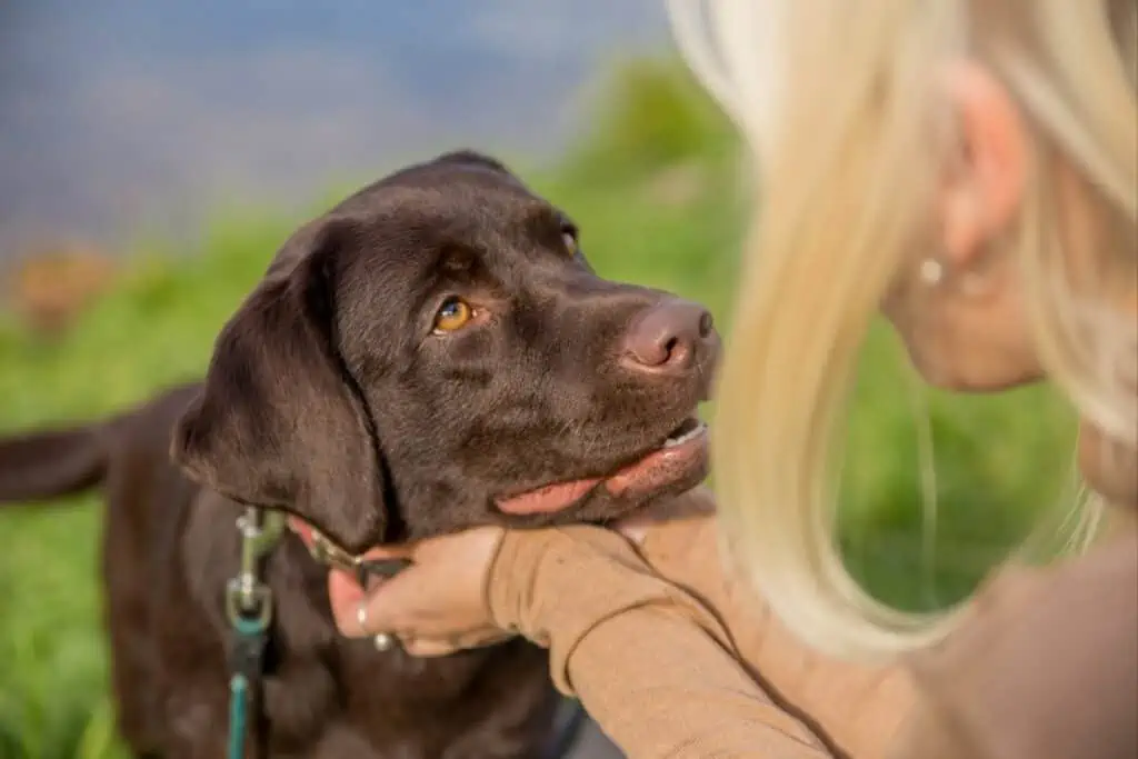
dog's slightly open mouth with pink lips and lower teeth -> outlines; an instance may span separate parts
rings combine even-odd
[[[688,416],[663,443],[608,475],[543,485],[494,501],[504,514],[526,515],[564,511],[599,488],[615,497],[640,500],[704,472],[707,461],[707,424]]]

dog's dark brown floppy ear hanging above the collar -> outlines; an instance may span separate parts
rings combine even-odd
[[[338,347],[335,254],[354,237],[339,220],[286,244],[277,258],[295,264],[223,328],[172,452],[203,485],[290,511],[357,552],[382,539],[386,510],[374,423]]]

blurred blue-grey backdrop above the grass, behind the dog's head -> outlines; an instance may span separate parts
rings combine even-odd
[[[662,0],[0,0],[0,256],[465,145],[539,158]]]

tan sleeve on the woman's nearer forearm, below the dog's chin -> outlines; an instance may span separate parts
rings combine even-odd
[[[740,667],[718,620],[615,534],[510,533],[489,596],[629,759],[831,756]]]

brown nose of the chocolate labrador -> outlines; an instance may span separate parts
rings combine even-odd
[[[668,300],[633,322],[625,336],[625,354],[632,368],[640,371],[686,371],[711,330],[711,314],[706,308],[686,300]]]

